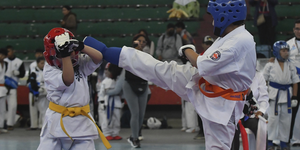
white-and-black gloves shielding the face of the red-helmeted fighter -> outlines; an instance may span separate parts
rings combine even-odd
[[[55,37],[55,47],[58,51],[64,50],[64,48],[69,47],[68,52],[72,52],[75,50],[75,47],[79,46],[79,41],[70,39],[70,35],[68,32],[64,32],[62,35],[58,35]]]

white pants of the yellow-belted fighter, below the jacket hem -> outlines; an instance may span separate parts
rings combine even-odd
[[[40,139],[40,145],[37,150],[95,150],[94,140],[77,140],[74,142],[71,139],[58,139],[47,137],[47,128]]]

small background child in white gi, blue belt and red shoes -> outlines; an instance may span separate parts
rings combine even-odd
[[[104,71],[107,77],[101,82],[100,86],[98,112],[104,116],[101,120],[101,129],[107,140],[122,140],[122,137],[119,136],[122,91],[115,95],[107,93],[107,90],[116,88],[116,79],[121,74],[122,69],[115,64],[107,63]]]

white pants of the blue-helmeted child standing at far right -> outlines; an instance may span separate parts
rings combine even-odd
[[[275,101],[269,100],[268,140],[289,142],[292,113],[287,113],[287,103],[278,103],[278,115],[275,116]]]

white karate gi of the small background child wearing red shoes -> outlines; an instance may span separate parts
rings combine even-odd
[[[122,106],[121,106],[120,95],[110,96],[107,95],[105,92],[107,89],[115,88],[115,85],[116,85],[116,80],[107,77],[101,82],[101,88],[99,92],[98,102],[104,101],[104,104],[106,106],[104,110],[98,108],[99,114],[103,115],[101,116],[101,118],[103,119],[101,120],[101,129],[105,137],[107,136],[116,137],[119,135],[119,132],[121,130],[121,107]],[[112,115],[111,107],[113,104],[113,98],[115,102],[114,102],[114,110]],[[110,119],[107,119],[108,105],[110,106],[111,122]]]

